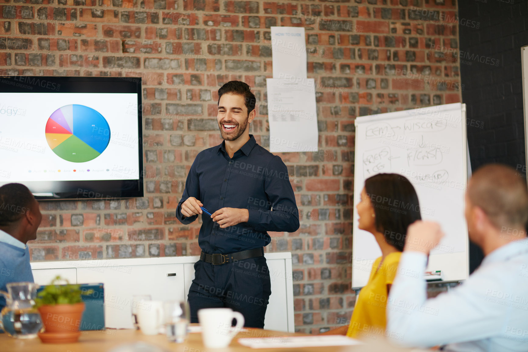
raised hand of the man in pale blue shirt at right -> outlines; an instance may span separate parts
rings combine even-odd
[[[415,251],[429,254],[431,249],[439,245],[444,233],[440,224],[434,221],[417,220],[407,229],[407,239],[404,251]]]

